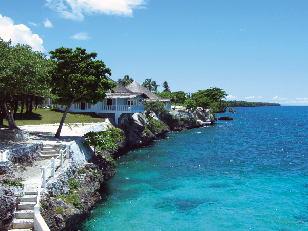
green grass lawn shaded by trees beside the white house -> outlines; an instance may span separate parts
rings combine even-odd
[[[16,116],[16,125],[22,126],[22,125],[38,125],[38,124],[54,124],[54,123],[60,123],[60,120],[62,118],[63,111],[56,110],[56,109],[41,109],[37,108],[33,109],[31,114],[31,119],[28,118],[26,113],[22,114],[21,120],[20,113],[17,111]],[[104,122],[105,119],[102,117],[99,117],[94,112],[92,113],[71,113],[68,112],[65,118],[64,123],[81,123],[81,120],[79,118],[80,115],[83,115],[85,118],[85,123],[97,123],[97,122]],[[3,124],[6,125],[4,127],[8,126],[8,121],[4,119]]]

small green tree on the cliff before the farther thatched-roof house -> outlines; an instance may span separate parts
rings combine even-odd
[[[160,102],[159,100],[146,101],[144,104],[144,110],[145,117],[147,119],[146,124],[151,121],[155,117],[155,115],[160,118],[168,113],[165,104],[163,102]]]

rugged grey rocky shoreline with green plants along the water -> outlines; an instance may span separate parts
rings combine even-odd
[[[101,199],[98,191],[102,183],[115,175],[112,158],[119,150],[144,146],[170,131],[202,127],[197,120],[213,123],[216,118],[209,111],[169,112],[164,116],[164,122],[155,118],[146,123],[144,115],[136,113],[131,120],[118,127],[117,131],[125,138],[117,142],[116,149],[94,155],[90,147],[83,145],[84,138],[71,142],[71,162],[58,176],[47,182],[47,190],[40,199],[40,212],[50,230],[74,230],[74,226],[90,213],[95,203]],[[111,129],[115,127],[113,124]],[[0,176],[5,179],[5,175]],[[18,187],[8,188],[0,181],[0,194],[13,198],[10,200],[10,206],[6,207],[6,202],[0,200],[0,208],[7,211],[6,216],[0,218],[1,230],[11,229],[14,207],[20,200],[18,196],[13,196],[19,195],[14,193],[16,190],[20,193]]]

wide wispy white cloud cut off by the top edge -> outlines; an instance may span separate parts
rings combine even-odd
[[[133,9],[145,8],[147,0],[46,0],[46,6],[64,18],[83,20],[84,14],[132,16]]]

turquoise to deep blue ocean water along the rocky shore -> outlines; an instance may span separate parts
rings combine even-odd
[[[308,107],[234,109],[121,156],[76,228],[308,230]]]

